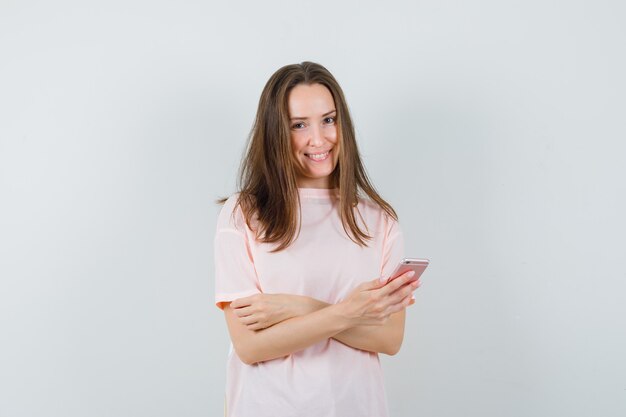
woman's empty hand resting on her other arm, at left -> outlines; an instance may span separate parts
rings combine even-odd
[[[289,294],[254,294],[230,303],[234,313],[250,330],[261,330],[299,315],[296,296]]]

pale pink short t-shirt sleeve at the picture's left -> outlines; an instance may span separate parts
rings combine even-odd
[[[231,196],[220,212],[215,231],[215,305],[261,292],[250,251],[245,222],[240,210],[233,214],[235,197]]]

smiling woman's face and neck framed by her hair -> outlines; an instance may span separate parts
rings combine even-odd
[[[333,96],[322,84],[298,84],[289,93],[289,130],[300,188],[331,188],[339,143]]]

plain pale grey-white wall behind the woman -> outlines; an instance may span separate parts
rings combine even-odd
[[[407,255],[392,416],[626,415],[620,1],[0,0],[0,416],[218,416],[214,200],[326,66]]]

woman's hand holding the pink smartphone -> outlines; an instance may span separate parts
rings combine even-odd
[[[354,326],[380,326],[389,316],[413,304],[411,295],[420,285],[408,271],[385,283],[376,278],[358,285],[339,304]]]

